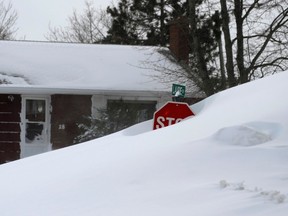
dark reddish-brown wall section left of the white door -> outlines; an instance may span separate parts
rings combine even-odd
[[[0,95],[0,163],[20,158],[20,112],[20,95]]]

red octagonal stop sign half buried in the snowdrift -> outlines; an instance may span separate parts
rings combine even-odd
[[[187,103],[167,102],[154,113],[153,130],[178,123],[195,115]]]

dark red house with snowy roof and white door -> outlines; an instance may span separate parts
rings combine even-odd
[[[162,64],[155,47],[0,41],[0,56],[0,163],[71,145],[111,101],[153,112],[171,100],[172,84],[141,65]]]

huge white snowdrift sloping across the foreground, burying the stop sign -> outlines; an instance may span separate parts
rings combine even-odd
[[[288,72],[152,121],[0,166],[1,216],[286,216]]]

